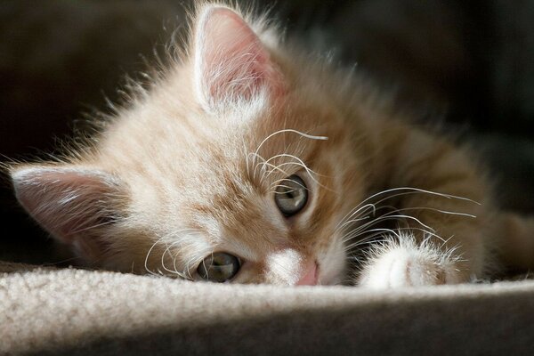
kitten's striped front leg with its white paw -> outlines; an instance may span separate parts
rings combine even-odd
[[[394,206],[399,215],[409,216],[404,219],[409,230],[398,232],[395,239],[401,241],[371,250],[357,283],[402,287],[480,278],[493,225],[490,190],[481,174],[465,152],[448,142],[399,127],[390,132],[392,147],[384,152],[382,171],[388,185],[419,191],[405,190],[396,197]]]

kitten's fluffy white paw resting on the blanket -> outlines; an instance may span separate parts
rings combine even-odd
[[[414,239],[377,247],[357,281],[362,287],[376,289],[419,287],[461,282],[454,258]]]

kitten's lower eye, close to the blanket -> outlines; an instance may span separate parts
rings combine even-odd
[[[215,252],[198,265],[197,271],[202,279],[222,283],[232,279],[240,267],[241,263],[239,263],[238,257],[223,252]]]

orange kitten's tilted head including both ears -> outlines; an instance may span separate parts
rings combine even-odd
[[[85,263],[239,283],[334,284],[361,178],[332,85],[263,21],[205,5],[187,55],[16,195]],[[328,89],[330,88],[330,89]]]

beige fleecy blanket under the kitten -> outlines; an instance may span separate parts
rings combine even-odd
[[[370,292],[0,263],[0,354],[532,355],[534,281]]]

